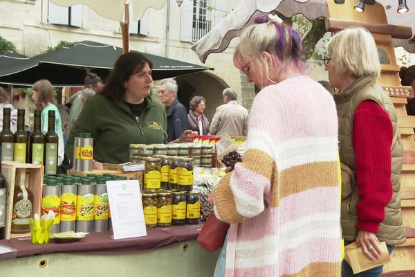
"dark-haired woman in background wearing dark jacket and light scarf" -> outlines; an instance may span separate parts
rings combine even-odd
[[[203,111],[205,111],[205,102],[206,100],[202,96],[194,96],[190,100],[190,111],[187,114],[189,128],[192,131],[198,132],[199,136],[209,134],[209,120],[203,114]]]

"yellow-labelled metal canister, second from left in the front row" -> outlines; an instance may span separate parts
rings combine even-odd
[[[65,178],[61,189],[60,231],[75,231],[77,184],[80,178]]]

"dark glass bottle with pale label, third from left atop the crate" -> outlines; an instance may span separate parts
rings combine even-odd
[[[29,163],[43,166],[45,138],[41,130],[42,111],[35,109],[33,133],[29,137]]]

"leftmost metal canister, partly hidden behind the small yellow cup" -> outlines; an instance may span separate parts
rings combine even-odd
[[[61,186],[57,184],[56,179],[48,179],[45,185],[43,186],[42,215],[48,213],[48,211],[55,213],[55,220],[53,220],[50,233],[59,233]]]

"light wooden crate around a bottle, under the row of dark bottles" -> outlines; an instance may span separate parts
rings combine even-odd
[[[44,177],[44,167],[35,166],[31,163],[19,163],[17,161],[2,161],[1,173],[6,178],[8,191],[6,199],[6,239],[30,236],[30,232],[21,234],[10,234],[12,224],[14,188],[16,181],[16,172],[18,170],[29,171],[28,190],[30,190],[30,192],[33,194],[32,214],[39,213],[40,215],[40,211],[42,208],[42,186]]]

